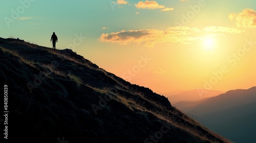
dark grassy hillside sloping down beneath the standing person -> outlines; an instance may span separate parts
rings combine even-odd
[[[0,38],[8,137],[21,142],[230,142],[72,50]]]

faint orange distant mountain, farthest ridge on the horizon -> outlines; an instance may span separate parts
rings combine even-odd
[[[168,100],[171,103],[178,103],[184,101],[200,101],[205,98],[215,97],[219,94],[224,93],[224,91],[218,90],[205,90],[205,89],[194,89],[194,90],[186,90],[181,93],[172,95],[172,96],[164,96],[168,97]]]

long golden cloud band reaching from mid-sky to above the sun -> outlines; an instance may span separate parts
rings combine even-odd
[[[190,44],[201,40],[202,35],[212,34],[215,36],[228,36],[230,34],[240,34],[244,30],[228,27],[206,27],[204,29],[189,28],[185,26],[170,27],[166,30],[141,29],[122,30],[119,32],[102,33],[99,37],[101,42],[117,43],[127,45],[135,43],[138,46],[154,47],[156,43],[172,42],[180,44]]]

